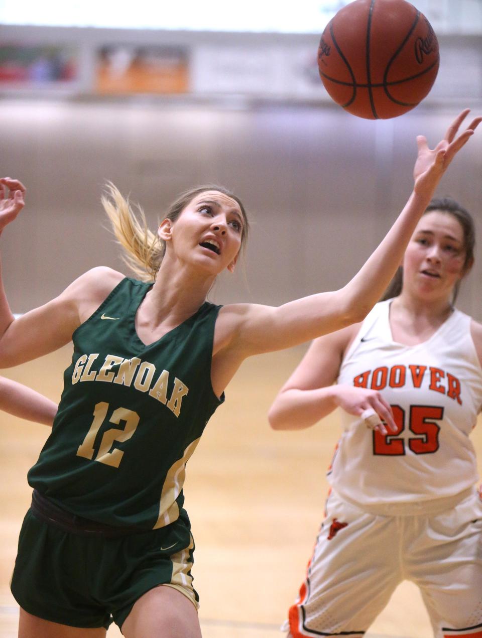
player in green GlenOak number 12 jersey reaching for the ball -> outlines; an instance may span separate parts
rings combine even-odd
[[[52,434],[29,472],[33,501],[11,588],[20,638],[199,638],[185,465],[241,362],[361,321],[389,283],[456,152],[468,111],[430,150],[418,138],[414,190],[395,224],[342,289],[271,308],[205,301],[233,271],[248,223],[241,202],[209,186],[185,193],[157,237],[116,189],[105,202],[147,283],[99,267],[17,320],[0,288],[0,366],[74,352]],[[458,137],[457,137],[458,135]],[[0,231],[24,206],[5,178]],[[162,586],[160,586],[162,585]]]

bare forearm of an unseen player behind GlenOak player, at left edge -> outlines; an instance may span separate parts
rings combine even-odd
[[[57,404],[22,383],[0,376],[0,410],[20,419],[51,426]]]

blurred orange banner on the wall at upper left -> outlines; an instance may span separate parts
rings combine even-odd
[[[189,58],[188,47],[182,46],[106,45],[97,52],[96,92],[188,93]]]

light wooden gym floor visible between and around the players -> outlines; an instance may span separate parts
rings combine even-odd
[[[186,508],[197,545],[193,575],[203,638],[284,636],[279,627],[305,575],[339,434],[336,415],[300,432],[274,432],[267,424],[269,405],[303,352],[246,361],[188,463]],[[70,356],[64,348],[2,374],[58,401]],[[48,433],[45,426],[1,414],[0,638],[17,636],[18,607],[8,583],[31,497],[26,473]],[[473,436],[480,451],[480,426]],[[120,636],[116,627],[107,632],[108,638]],[[432,636],[411,583],[396,590],[370,628],[367,637],[375,636]]]

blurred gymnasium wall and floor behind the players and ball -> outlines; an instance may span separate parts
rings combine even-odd
[[[26,209],[1,238],[16,313],[95,265],[128,274],[100,206],[107,180],[144,207],[153,228],[194,184],[218,182],[241,197],[252,219],[245,265],[220,279],[215,302],[277,305],[338,288],[405,203],[416,135],[433,144],[462,108],[482,111],[481,0],[415,2],[439,37],[441,70],[418,108],[389,121],[345,113],[319,80],[320,33],[346,1],[158,4],[138,0],[124,14],[109,1],[0,1],[0,174],[27,186]],[[479,238],[481,174],[478,131],[438,194],[474,214]],[[476,258],[458,302],[479,321],[481,274]],[[266,420],[303,352],[247,362],[190,462],[186,505],[206,638],[280,635],[303,578],[338,421],[272,433]],[[67,348],[2,373],[57,400],[69,359]],[[0,637],[10,638],[25,475],[47,431],[0,420]],[[429,636],[417,594],[398,595],[373,631]]]

